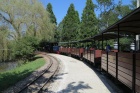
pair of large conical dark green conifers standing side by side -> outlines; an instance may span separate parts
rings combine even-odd
[[[61,25],[58,26],[59,29],[61,27],[59,30],[61,31],[61,41],[77,41],[97,34],[98,20],[94,8],[92,0],[87,0],[80,22],[78,11],[71,4]]]

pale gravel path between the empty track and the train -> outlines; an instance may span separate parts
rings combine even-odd
[[[58,58],[61,69],[47,93],[122,93],[113,83],[103,75],[96,74],[82,61],[63,55],[50,55]]]

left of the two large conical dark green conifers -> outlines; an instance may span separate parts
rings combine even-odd
[[[80,24],[79,14],[73,4],[70,5],[66,16],[63,19],[63,41],[73,41],[77,39],[78,27]]]

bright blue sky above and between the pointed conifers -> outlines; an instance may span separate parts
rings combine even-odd
[[[39,1],[43,4],[44,8],[46,8],[48,3],[52,4],[53,12],[57,18],[57,23],[60,23],[62,21],[71,3],[74,4],[75,9],[79,12],[80,17],[86,5],[86,0],[39,0]],[[123,4],[130,4],[131,0],[122,0],[122,1]],[[118,0],[115,0],[115,2],[118,2]],[[93,0],[93,3],[97,4],[96,0]],[[95,11],[95,13],[97,16],[99,11]]]

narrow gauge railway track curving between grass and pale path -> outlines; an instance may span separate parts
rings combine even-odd
[[[38,76],[35,80],[23,87],[18,93],[40,93],[44,86],[49,83],[49,80],[59,70],[59,62],[56,58],[49,56],[50,64],[47,69]]]

